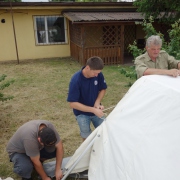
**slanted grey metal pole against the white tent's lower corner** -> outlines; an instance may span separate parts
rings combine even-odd
[[[94,137],[94,139],[89,143],[89,145],[86,147],[86,149],[84,150],[84,152],[78,157],[78,159],[74,162],[74,164],[71,166],[71,168],[67,171],[67,173],[65,174],[65,176],[61,179],[61,180],[65,180],[68,175],[71,173],[71,171],[75,168],[75,166],[79,163],[79,161],[81,160],[81,158],[86,154],[87,150],[89,150],[89,148],[94,144],[94,141],[96,139],[97,135]]]

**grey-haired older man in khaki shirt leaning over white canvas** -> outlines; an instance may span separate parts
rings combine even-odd
[[[180,75],[180,61],[161,50],[162,39],[152,35],[146,41],[146,53],[135,59],[137,77],[159,74],[177,77]]]

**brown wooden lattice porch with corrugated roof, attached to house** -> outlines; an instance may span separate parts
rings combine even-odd
[[[105,65],[124,64],[128,45],[136,40],[137,12],[63,12],[69,19],[71,56],[84,65],[100,56]],[[131,56],[132,57],[132,56]]]

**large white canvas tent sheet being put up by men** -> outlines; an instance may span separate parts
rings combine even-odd
[[[93,139],[72,172],[88,168],[89,180],[180,180],[180,77],[137,80],[66,169]]]

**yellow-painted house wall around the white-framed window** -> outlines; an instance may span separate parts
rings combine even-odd
[[[67,44],[36,45],[34,15],[60,15],[60,10],[15,10],[13,13],[19,60],[70,56],[69,34]],[[0,10],[0,61],[17,60],[12,16]],[[68,22],[66,23],[68,28]],[[69,30],[67,31],[67,33]]]

